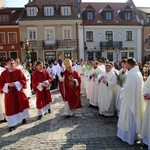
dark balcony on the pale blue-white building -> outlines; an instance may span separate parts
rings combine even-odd
[[[100,49],[121,49],[122,41],[100,42]]]

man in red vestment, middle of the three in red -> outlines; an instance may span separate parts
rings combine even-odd
[[[36,93],[36,107],[38,109],[38,120],[45,113],[51,112],[51,87],[52,77],[46,69],[43,69],[43,62],[38,61],[32,75],[32,87]]]

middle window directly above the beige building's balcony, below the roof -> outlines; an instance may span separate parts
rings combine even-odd
[[[54,40],[55,39],[55,28],[46,27],[45,28],[45,40]]]

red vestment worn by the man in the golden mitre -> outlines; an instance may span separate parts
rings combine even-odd
[[[82,108],[80,99],[80,87],[81,87],[81,77],[77,71],[72,71],[71,73],[65,70],[63,72],[64,82],[59,83],[60,93],[65,101],[68,101],[70,110]],[[75,83],[71,83],[69,77],[72,76],[77,79],[79,85],[76,86]]]

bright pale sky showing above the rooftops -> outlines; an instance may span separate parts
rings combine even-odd
[[[0,0],[1,1],[1,0]],[[83,2],[126,2],[127,0],[82,0]],[[133,0],[137,7],[150,7],[150,0]],[[5,0],[6,7],[24,7],[28,0]]]

